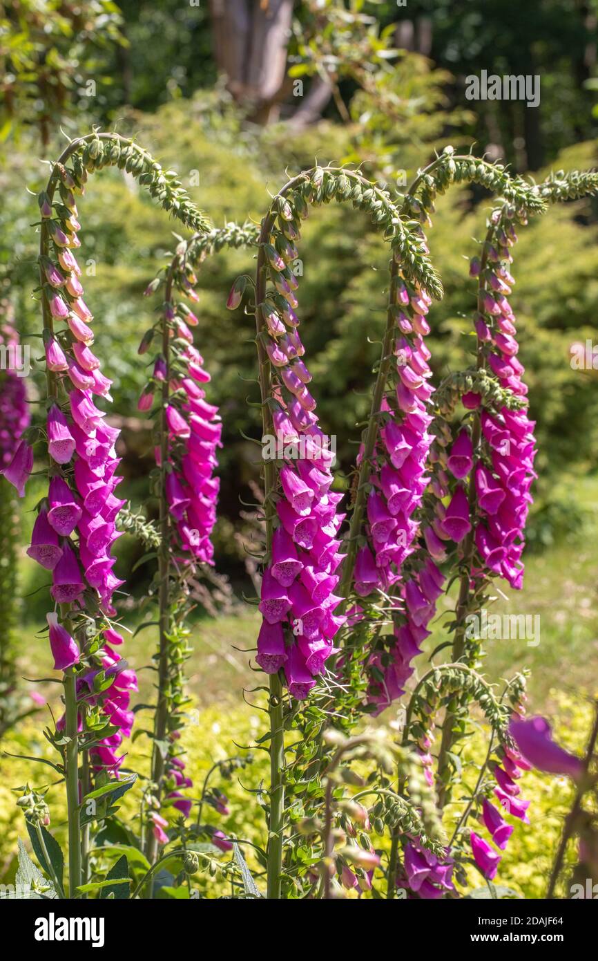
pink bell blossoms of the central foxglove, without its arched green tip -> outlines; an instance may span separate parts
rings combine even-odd
[[[335,614],[342,598],[335,595],[343,554],[337,534],[345,514],[342,495],[330,488],[333,454],[319,426],[316,401],[308,384],[311,374],[302,360],[295,291],[290,268],[297,258],[299,225],[293,211],[281,205],[280,230],[266,245],[268,272],[275,291],[258,305],[265,330],[260,333],[272,365],[270,409],[283,462],[272,556],[264,571],[259,609],[262,627],[256,661],[267,674],[281,667],[291,695],[304,700],[336,652],[334,638],[345,618]],[[266,442],[266,438],[264,438]],[[264,448],[264,456],[269,456]]]

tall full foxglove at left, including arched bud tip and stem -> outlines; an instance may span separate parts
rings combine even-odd
[[[164,173],[146,151],[113,134],[95,132],[71,141],[52,164],[38,196],[47,384],[45,423],[38,435],[47,449],[49,486],[38,505],[28,554],[52,572],[56,608],[47,620],[54,665],[62,672],[65,711],[56,731],[46,736],[60,753],[57,770],[66,784],[71,897],[82,883],[82,863],[84,875],[87,870],[91,819],[82,821],[81,801],[94,781],[104,795],[110,777],[118,778],[124,755],[117,752],[131,733],[129,702],[137,686],[134,672],[114,650],[122,644],[113,596],[123,581],[112,572],[110,554],[124,503],[116,495],[119,431],[108,426],[106,413],[96,406],[98,399],[110,399],[111,382],[90,349],[93,317],[73,253],[81,246],[75,197],[84,193],[88,174],[106,165],[137,177],[183,223],[207,227],[172,171]],[[19,493],[32,464],[33,451],[22,440],[5,472]]]

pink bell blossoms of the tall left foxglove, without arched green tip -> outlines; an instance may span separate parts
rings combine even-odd
[[[45,435],[50,457],[47,496],[39,505],[28,554],[52,572],[51,595],[68,605],[61,622],[50,612],[50,646],[57,670],[77,666],[77,701],[82,731],[110,732],[90,750],[96,771],[115,774],[124,754],[117,751],[131,733],[134,672],[114,651],[122,635],[112,627],[114,593],[123,584],[113,573],[111,546],[120,536],[116,517],[125,503],[116,494],[119,431],[106,422],[97,403],[109,400],[111,382],[92,353],[93,317],[83,300],[81,268],[73,254],[80,246],[70,175],[60,169],[59,218],[42,209],[50,242],[39,259],[43,296],[52,322],[44,327],[46,364],[53,394]],[[75,625],[76,629],[73,629]],[[75,636],[73,636],[73,634]],[[58,727],[63,727],[64,717]]]

